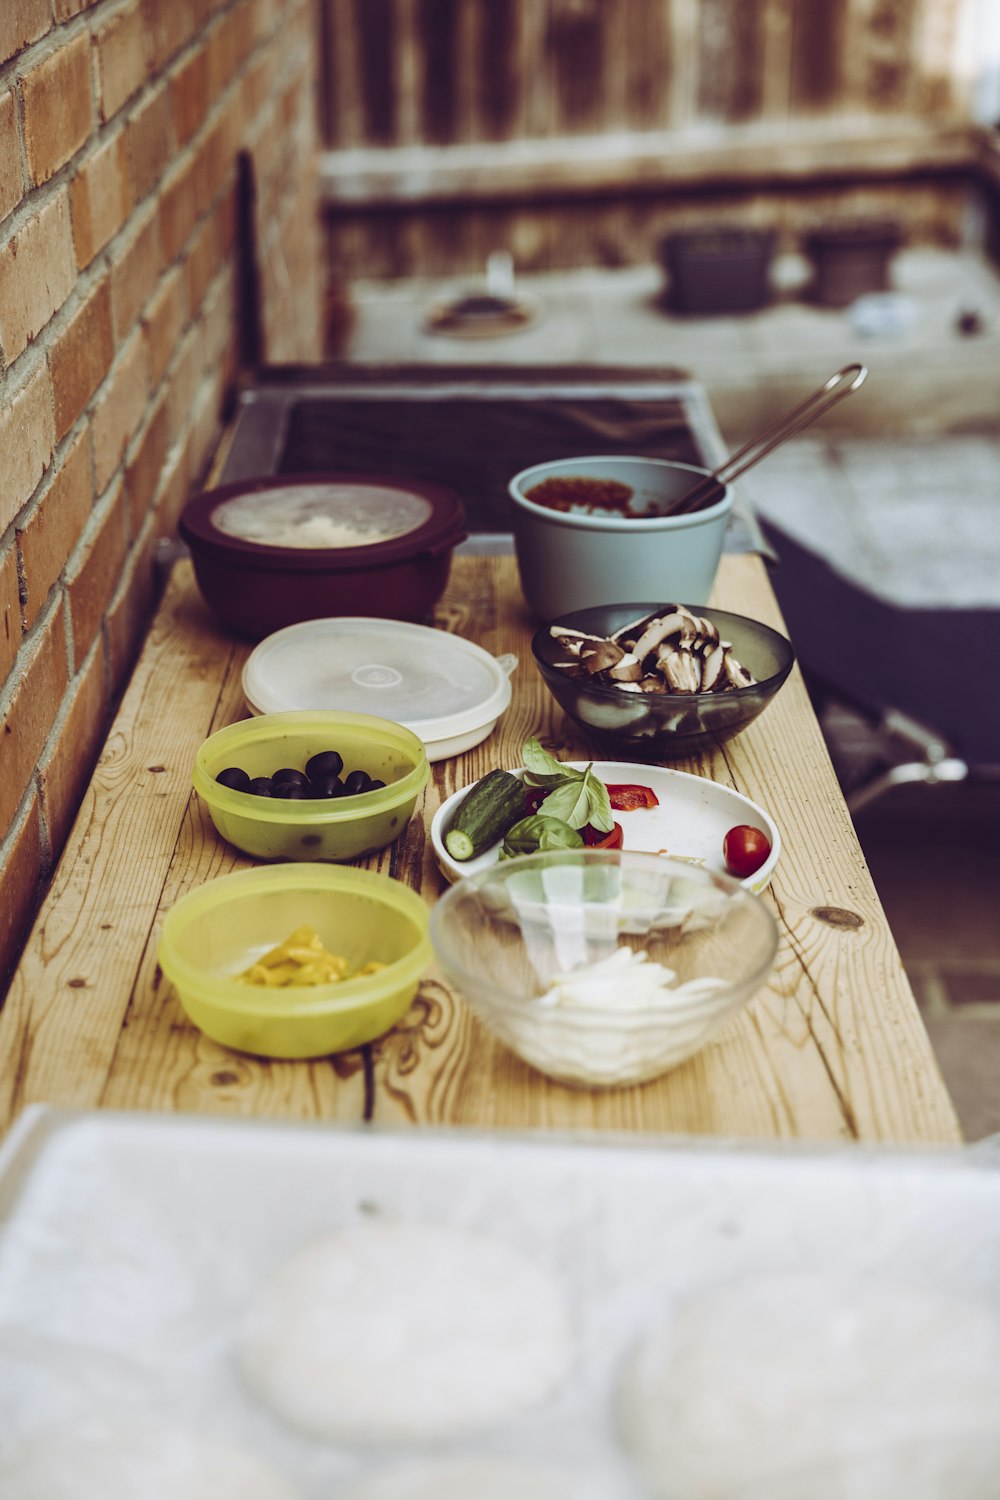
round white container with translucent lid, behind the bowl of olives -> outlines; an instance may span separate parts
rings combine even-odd
[[[516,664],[516,657],[493,657],[429,626],[306,620],[255,646],[243,693],[258,714],[337,708],[393,718],[420,735],[430,754],[435,742],[489,726],[504,712]]]

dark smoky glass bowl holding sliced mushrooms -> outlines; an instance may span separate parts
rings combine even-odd
[[[567,650],[550,634],[552,626],[612,636],[631,620],[673,608],[639,603],[577,609],[543,626],[531,642],[538,670],[559,706],[588,735],[628,760],[682,759],[730,740],[763,712],[795,664],[792,644],[771,626],[708,604],[688,604],[693,614],[718,626],[723,640],[732,642],[736,658],[757,678],[751,687],[726,693],[630,693],[556,666],[567,660]]]

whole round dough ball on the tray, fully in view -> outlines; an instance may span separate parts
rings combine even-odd
[[[313,1437],[441,1438],[544,1400],[571,1359],[558,1282],[483,1234],[372,1221],[310,1242],[262,1290],[241,1365]]]

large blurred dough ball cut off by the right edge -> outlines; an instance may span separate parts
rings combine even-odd
[[[679,1306],[633,1353],[619,1420],[661,1500],[996,1500],[997,1390],[990,1308],[796,1274]]]

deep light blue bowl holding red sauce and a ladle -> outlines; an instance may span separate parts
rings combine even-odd
[[[667,459],[601,454],[558,459],[522,470],[510,482],[514,501],[514,552],[520,586],[541,620],[621,598],[682,598],[705,604],[723,555],[733,490],[703,510],[669,516],[706,470]],[[618,480],[633,490],[639,514],[553,510],[529,498],[544,480]]]

